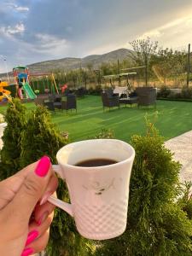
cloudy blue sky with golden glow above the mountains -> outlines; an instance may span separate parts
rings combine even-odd
[[[191,0],[0,0],[0,73],[18,65],[131,49],[138,38],[187,49]]]

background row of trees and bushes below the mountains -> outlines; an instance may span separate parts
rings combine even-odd
[[[133,51],[124,61],[104,62],[99,67],[92,63],[86,67],[79,67],[75,70],[66,71],[54,70],[57,84],[68,84],[69,87],[78,88],[84,86],[90,88],[97,85],[107,85],[109,81],[103,76],[125,72],[137,72],[135,84],[170,85],[182,87],[187,83],[187,53],[184,50],[163,49],[157,41],[137,39],[130,42]],[[131,67],[143,67],[133,68]],[[127,70],[126,70],[127,69]],[[189,69],[190,70],[190,69]],[[192,79],[192,76],[189,76]],[[125,84],[125,79],[114,79],[114,84]],[[46,81],[42,79],[34,81],[35,87],[42,83],[46,87]],[[134,84],[132,82],[132,84]]]

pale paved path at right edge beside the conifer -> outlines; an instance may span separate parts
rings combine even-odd
[[[173,158],[182,164],[181,181],[192,181],[192,131],[166,141],[166,148],[174,153]]]

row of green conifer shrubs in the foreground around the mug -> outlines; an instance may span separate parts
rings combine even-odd
[[[51,123],[45,108],[32,113],[17,99],[9,105],[3,135],[0,176],[9,177],[21,167],[55,153],[67,141]],[[96,138],[114,137],[102,129]],[[165,148],[154,125],[147,121],[145,136],[132,137],[136,159],[131,172],[128,221],[122,236],[108,241],[88,241],[76,230],[73,218],[57,209],[51,225],[49,256],[189,256],[192,254],[191,184],[178,180],[179,163]],[[60,181],[58,197],[68,201],[66,184]]]

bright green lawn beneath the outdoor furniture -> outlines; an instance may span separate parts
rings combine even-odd
[[[34,104],[26,103],[31,110]],[[6,107],[0,107],[0,113],[5,112]],[[56,111],[52,114],[53,122],[61,131],[68,131],[70,141],[79,141],[94,136],[102,128],[110,128],[115,137],[129,141],[133,134],[145,132],[145,115],[155,122],[160,134],[169,139],[192,130],[192,102],[168,102],[158,101],[156,110],[153,107],[130,108],[124,105],[120,109],[102,111],[100,96],[85,96],[78,100],[78,113]],[[157,118],[155,117],[157,116]]]

